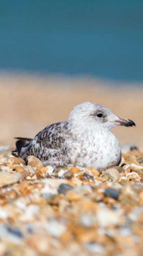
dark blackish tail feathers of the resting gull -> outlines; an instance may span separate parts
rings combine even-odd
[[[21,137],[16,137],[17,141],[15,142],[16,149],[12,151],[13,156],[19,156],[21,152],[21,148],[25,147],[29,141],[32,139],[30,138],[21,138]]]

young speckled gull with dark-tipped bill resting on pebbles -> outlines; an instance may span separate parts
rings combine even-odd
[[[71,110],[68,121],[48,125],[33,139],[16,138],[16,150],[26,162],[33,155],[44,166],[78,165],[102,170],[121,162],[119,141],[110,132],[114,126],[136,125],[99,104],[83,102]]]

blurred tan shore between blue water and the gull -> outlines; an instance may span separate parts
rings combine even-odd
[[[13,137],[34,137],[48,124],[66,121],[74,105],[93,101],[115,115],[133,120],[136,128],[115,127],[120,144],[143,145],[143,86],[110,86],[91,78],[0,74],[0,145]]]

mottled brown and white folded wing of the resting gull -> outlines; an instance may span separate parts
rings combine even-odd
[[[48,125],[21,149],[20,156],[27,159],[29,155],[33,155],[41,160],[47,160],[49,157],[60,155],[67,138],[67,124],[68,122],[61,122]],[[62,153],[65,150],[66,147]]]

